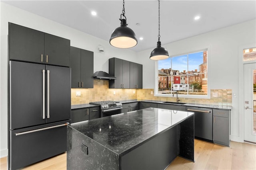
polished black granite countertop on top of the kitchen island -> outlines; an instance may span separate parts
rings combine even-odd
[[[194,113],[150,107],[69,126],[116,154],[125,154],[192,115]]]

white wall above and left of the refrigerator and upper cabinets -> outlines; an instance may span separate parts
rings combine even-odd
[[[108,59],[112,57],[121,58],[124,60],[138,63],[136,59],[136,52],[129,49],[118,49],[112,47],[108,41],[93,37],[76,29],[72,29],[60,23],[56,23],[46,18],[34,15],[32,13],[20,10],[19,8],[10,6],[0,2],[1,9],[1,39],[0,39],[0,157],[6,156],[7,152],[7,79],[8,79],[8,55],[7,55],[7,40],[8,40],[8,22],[16,23],[70,39],[70,45],[79,47],[89,51],[94,51],[94,72],[105,71],[108,72]],[[111,33],[109,34],[109,36]],[[99,52],[98,45],[102,45],[105,51]]]

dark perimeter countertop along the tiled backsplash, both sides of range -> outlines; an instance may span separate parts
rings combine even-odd
[[[120,100],[118,101],[122,104],[124,103],[132,103],[132,102],[150,102],[150,103],[156,103],[156,104],[166,104],[163,103],[165,101],[158,101],[158,100]],[[179,104],[173,104],[173,105],[179,105]],[[206,108],[212,108],[212,109],[225,109],[225,110],[231,110],[232,106],[221,106],[221,105],[210,105],[210,104],[193,104],[193,103],[187,103],[183,104],[181,106],[193,106],[193,107],[206,107]],[[78,109],[78,108],[84,108],[84,107],[95,107],[95,105],[91,104],[79,104],[79,105],[71,105],[71,109]]]

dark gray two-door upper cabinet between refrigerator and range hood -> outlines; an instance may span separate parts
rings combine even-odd
[[[70,47],[71,88],[93,88],[93,52]]]

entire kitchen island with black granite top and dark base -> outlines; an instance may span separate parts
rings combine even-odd
[[[68,126],[67,169],[162,170],[194,162],[194,113],[147,108]]]

